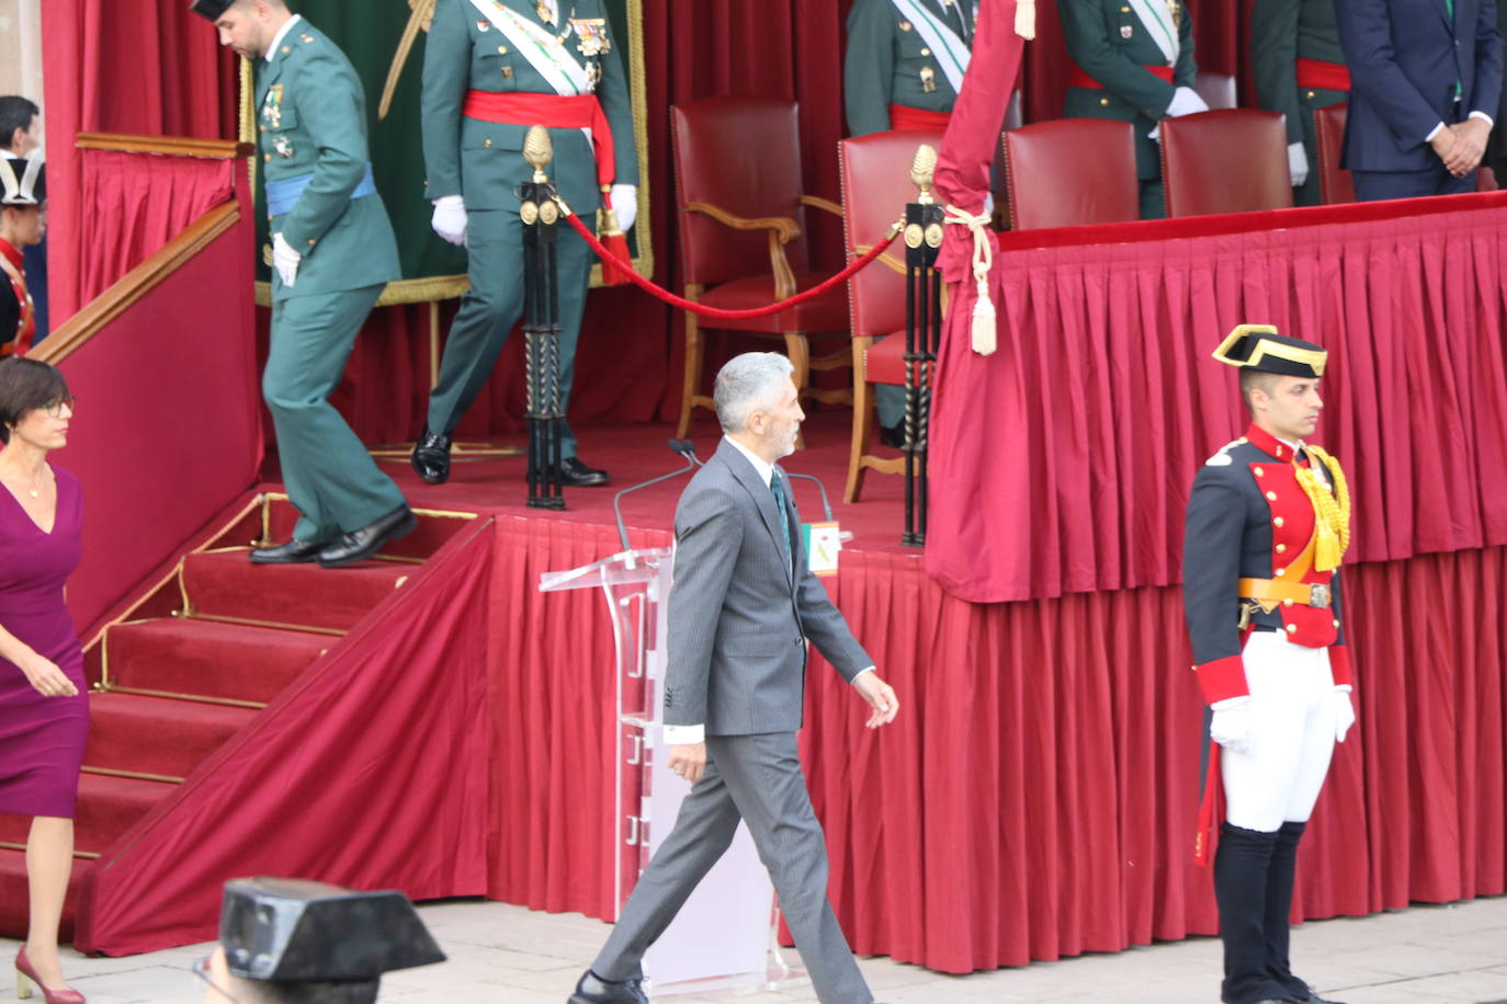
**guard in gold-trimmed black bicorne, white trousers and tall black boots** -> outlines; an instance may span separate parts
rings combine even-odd
[[[1298,841],[1355,724],[1340,604],[1350,491],[1307,441],[1325,349],[1240,325],[1215,358],[1240,369],[1251,427],[1209,458],[1188,500],[1183,604],[1210,707],[1197,853],[1218,843],[1221,999],[1314,1004],[1288,965],[1287,915]]]

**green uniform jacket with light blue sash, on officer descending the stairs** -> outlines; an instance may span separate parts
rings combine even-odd
[[[378,286],[399,277],[398,242],[381,196],[351,199],[366,176],[366,95],[351,60],[298,20],[256,60],[256,146],[268,182],[313,175],[294,208],[270,217],[303,254],[289,289],[273,269],[273,300]]]

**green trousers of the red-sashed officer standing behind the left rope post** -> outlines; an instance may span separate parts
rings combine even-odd
[[[449,434],[491,376],[508,333],[523,316],[523,221],[514,209],[470,209],[466,217],[470,292],[461,297],[429,396],[429,432]],[[564,220],[556,226],[559,283],[561,406],[576,379],[576,342],[586,312],[594,254]],[[576,456],[576,434],[564,423],[561,458]]]

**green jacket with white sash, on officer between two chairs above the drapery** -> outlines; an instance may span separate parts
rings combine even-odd
[[[1067,51],[1103,90],[1068,87],[1062,114],[1068,119],[1115,119],[1135,125],[1136,175],[1162,176],[1162,155],[1148,132],[1166,116],[1177,87],[1192,87],[1198,78],[1194,62],[1194,20],[1183,5],[1178,26],[1177,65],[1172,83],[1151,75],[1147,66],[1165,65],[1166,57],[1147,33],[1141,18],[1123,0],[1058,0]]]

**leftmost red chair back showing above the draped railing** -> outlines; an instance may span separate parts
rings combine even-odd
[[[1109,119],[1056,119],[1010,129],[1005,191],[1010,229],[1071,227],[1141,218],[1135,129]]]

